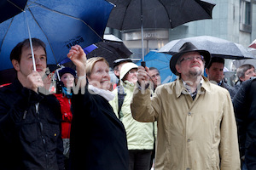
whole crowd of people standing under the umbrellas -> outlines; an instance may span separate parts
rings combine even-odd
[[[75,45],[67,54],[75,70],[56,70],[55,94],[46,95],[45,44],[32,38],[32,48],[36,71],[26,39],[10,54],[15,82],[0,88],[0,169],[256,169],[253,65],[237,69],[232,87],[224,59],[185,42],[170,60],[174,82],[117,59],[112,87],[108,61]]]

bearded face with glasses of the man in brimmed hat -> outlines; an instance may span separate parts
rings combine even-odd
[[[183,54],[179,59],[180,63],[176,65],[176,70],[181,77],[198,77],[204,71],[204,61],[198,52],[189,52]]]

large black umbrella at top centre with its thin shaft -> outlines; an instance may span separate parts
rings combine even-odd
[[[108,1],[116,7],[109,16],[107,26],[121,31],[140,28],[142,35],[143,28],[174,28],[192,20],[212,19],[212,8],[215,5],[209,3],[209,0]]]

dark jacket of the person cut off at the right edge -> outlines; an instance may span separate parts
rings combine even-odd
[[[256,169],[256,79],[242,82],[233,99],[241,156]]]

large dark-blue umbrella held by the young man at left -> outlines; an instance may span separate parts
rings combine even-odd
[[[24,12],[0,24],[0,71],[12,68],[12,48],[29,37],[45,42],[49,65],[65,59],[75,44],[102,41],[112,8],[105,0],[28,0]]]

